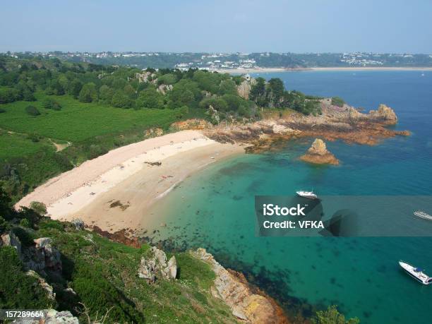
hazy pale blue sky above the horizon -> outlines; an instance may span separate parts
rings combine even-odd
[[[432,0],[0,1],[0,52],[432,54]]]

